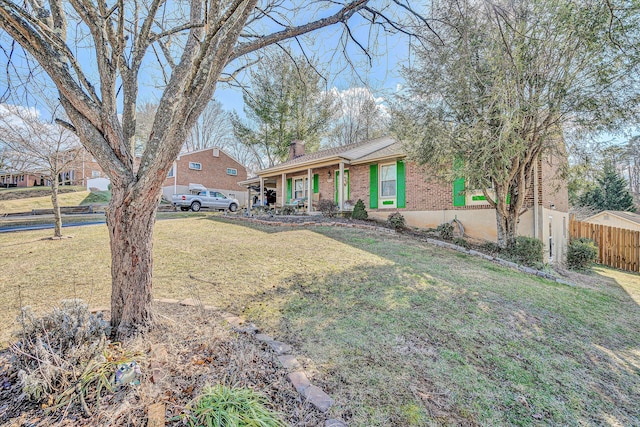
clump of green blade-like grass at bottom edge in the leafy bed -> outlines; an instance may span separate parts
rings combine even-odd
[[[277,414],[265,407],[266,399],[249,388],[221,384],[205,387],[184,415],[190,426],[285,427]]]

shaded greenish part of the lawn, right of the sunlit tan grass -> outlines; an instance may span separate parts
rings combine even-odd
[[[314,381],[350,425],[640,423],[640,308],[619,287],[569,287],[417,242],[314,230],[390,263],[300,271],[245,314],[316,363]]]

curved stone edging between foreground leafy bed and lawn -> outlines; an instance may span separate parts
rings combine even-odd
[[[287,378],[302,397],[322,413],[326,413],[331,408],[334,400],[320,387],[311,383],[307,373],[302,369],[302,364],[294,355],[290,354],[293,348],[289,344],[277,341],[269,335],[258,333],[259,329],[253,323],[247,323],[242,317],[225,314],[223,318],[233,330],[252,335],[257,341],[265,343],[273,350],[282,367],[289,371]],[[342,420],[329,419],[325,422],[325,426],[346,427],[347,424]]]

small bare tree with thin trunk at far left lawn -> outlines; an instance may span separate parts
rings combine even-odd
[[[6,163],[13,170],[41,174],[51,183],[53,235],[62,237],[59,176],[80,152],[78,137],[60,125],[42,121],[35,109],[0,104],[0,140],[5,144]]]

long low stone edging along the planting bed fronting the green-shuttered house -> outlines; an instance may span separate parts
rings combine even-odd
[[[364,229],[364,230],[373,230],[373,231],[379,231],[379,232],[383,232],[383,233],[389,233],[389,234],[396,234],[395,230],[392,230],[390,228],[386,228],[386,227],[380,227],[380,226],[375,226],[375,225],[366,225],[366,224],[348,224],[348,223],[343,223],[343,222],[316,222],[316,221],[305,221],[305,222],[299,222],[299,223],[289,223],[289,222],[276,222],[276,221],[268,221],[268,220],[261,220],[261,219],[257,219],[257,218],[247,218],[247,217],[232,217],[232,216],[227,216],[226,218],[229,219],[235,219],[235,220],[242,220],[242,221],[249,221],[249,222],[253,222],[256,224],[261,224],[261,225],[272,225],[272,226],[278,226],[278,227],[302,227],[302,226],[314,226],[314,227],[322,227],[322,226],[327,226],[327,227],[349,227],[349,228],[358,228],[358,229]],[[484,254],[482,252],[478,252],[476,250],[473,249],[467,249],[465,247],[462,246],[458,246],[455,245],[453,243],[449,243],[449,242],[444,242],[442,240],[437,240],[437,239],[432,239],[432,238],[427,238],[425,240],[422,241],[426,241],[429,244],[435,245],[435,246],[439,246],[442,248],[448,248],[448,249],[453,249],[454,251],[458,251],[458,252],[462,252],[465,253],[467,255],[472,255],[478,258],[484,258],[487,261],[492,261],[495,262],[496,264],[499,264],[503,267],[507,267],[507,268],[512,268],[514,270],[518,270],[522,273],[525,274],[530,274],[532,276],[538,276],[538,277],[542,277],[543,279],[547,279],[547,280],[551,280],[552,282],[556,282],[559,283],[561,285],[567,285],[567,286],[573,286],[575,287],[576,285],[568,282],[562,278],[556,277],[553,274],[547,273],[545,271],[542,270],[536,270],[535,268],[531,268],[531,267],[526,267],[524,265],[519,265],[516,264],[515,262],[512,261],[508,261],[506,259],[502,259],[502,258],[498,258],[498,257],[494,257],[491,255],[487,255]]]

